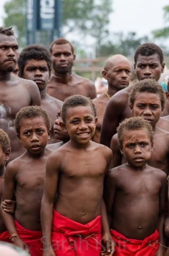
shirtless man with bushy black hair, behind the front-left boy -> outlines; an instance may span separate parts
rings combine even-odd
[[[20,53],[18,64],[19,76],[24,79],[30,79],[38,85],[41,97],[41,107],[47,111],[52,124],[52,133],[50,134],[48,144],[58,142],[54,136],[53,125],[56,119],[56,114],[60,110],[63,102],[46,93],[46,86],[51,71],[49,52],[43,46],[29,45],[24,47]]]

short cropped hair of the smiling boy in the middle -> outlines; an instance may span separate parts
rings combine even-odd
[[[92,101],[82,95],[73,95],[68,97],[67,99],[65,99],[63,106],[62,106],[62,120],[63,122],[66,121],[66,113],[67,113],[67,109],[69,108],[73,108],[73,107],[78,107],[78,106],[90,106],[93,113],[94,113],[94,117],[96,117],[96,108],[94,103],[92,103]]]

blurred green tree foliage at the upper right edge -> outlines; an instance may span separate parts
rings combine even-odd
[[[163,8],[164,10],[164,20],[166,23],[169,22],[169,5]],[[154,30],[153,31],[154,38],[167,38],[169,36],[169,23],[168,26],[162,29]]]

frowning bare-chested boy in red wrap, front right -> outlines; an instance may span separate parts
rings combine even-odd
[[[152,127],[141,117],[131,117],[119,125],[117,136],[126,163],[107,173],[104,187],[114,256],[153,256],[157,249],[164,255],[167,177],[147,165],[153,151]]]

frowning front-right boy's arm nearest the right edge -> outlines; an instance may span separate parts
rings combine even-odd
[[[164,205],[165,205],[165,198],[166,198],[166,175],[163,175],[162,177],[162,188],[159,191],[159,217],[158,217],[158,222],[157,222],[157,229],[159,232],[159,247],[156,252],[156,256],[162,256],[164,255],[165,252],[165,235],[164,235]]]

